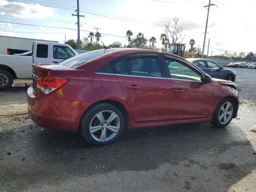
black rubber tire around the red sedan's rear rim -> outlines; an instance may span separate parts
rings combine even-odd
[[[91,121],[95,118],[95,116],[98,113],[104,112],[104,111],[112,111],[118,116],[119,123],[120,123],[120,128],[119,128],[118,132],[116,133],[116,135],[113,138],[111,138],[108,141],[103,142],[103,141],[96,140],[92,136],[92,134],[90,133],[90,124],[91,124]],[[107,118],[108,117],[106,117],[106,119]],[[104,120],[105,120],[105,116],[104,116]],[[81,122],[80,122],[80,126],[81,126],[82,135],[84,136],[84,138],[90,144],[96,145],[96,146],[104,146],[104,145],[110,144],[111,142],[113,142],[114,140],[116,140],[117,138],[120,137],[120,135],[122,134],[122,132],[124,130],[124,116],[123,116],[122,112],[116,106],[113,106],[113,105],[108,104],[108,103],[98,103],[98,104],[95,104],[95,105],[91,106],[86,111],[86,113],[84,113],[84,115],[82,116]],[[101,130],[98,130],[98,131],[100,132]],[[110,130],[108,130],[108,131],[106,130],[106,133],[107,132],[111,133]]]

